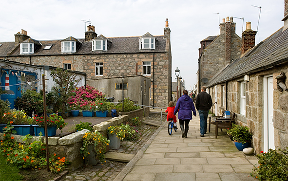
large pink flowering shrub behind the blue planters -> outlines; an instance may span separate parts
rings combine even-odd
[[[88,105],[92,106],[97,99],[105,97],[104,93],[88,85],[86,88],[84,86],[76,88],[73,92],[74,96],[71,96],[68,103],[71,107],[79,108],[80,110],[87,110],[86,107]]]

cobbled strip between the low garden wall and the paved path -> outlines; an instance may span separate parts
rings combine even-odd
[[[158,127],[141,125],[138,128],[140,137],[136,141],[121,141],[118,150],[109,150],[111,152],[136,154],[147,140],[154,134]],[[97,165],[85,165],[73,172],[69,172],[59,181],[113,181],[121,172],[127,163],[114,162],[106,160],[106,163]]]

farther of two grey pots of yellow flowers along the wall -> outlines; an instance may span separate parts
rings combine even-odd
[[[111,126],[107,129],[108,138],[110,140],[109,148],[119,149],[120,141],[125,138],[125,129],[122,129],[120,126]]]

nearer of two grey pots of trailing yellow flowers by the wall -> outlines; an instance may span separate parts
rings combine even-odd
[[[105,159],[106,146],[110,141],[107,140],[100,132],[86,132],[83,136],[80,154],[86,163],[96,165],[98,161],[103,162]]]

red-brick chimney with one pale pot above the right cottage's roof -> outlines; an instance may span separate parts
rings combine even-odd
[[[257,32],[251,30],[251,22],[246,22],[246,30],[242,33],[241,55],[255,46]]]

